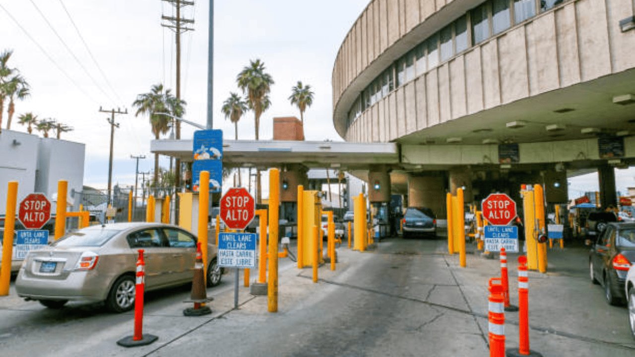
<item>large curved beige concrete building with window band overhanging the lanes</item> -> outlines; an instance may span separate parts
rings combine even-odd
[[[348,142],[391,142],[393,192],[445,217],[445,192],[518,198],[635,158],[632,0],[372,0],[335,58],[333,124]]]

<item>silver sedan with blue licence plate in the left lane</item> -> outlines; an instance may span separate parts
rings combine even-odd
[[[60,308],[69,300],[100,302],[116,312],[135,302],[137,250],[144,250],[145,291],[192,281],[196,236],[177,226],[116,223],[67,234],[29,252],[15,288],[18,296]],[[208,245],[207,284],[220,283],[217,248]]]

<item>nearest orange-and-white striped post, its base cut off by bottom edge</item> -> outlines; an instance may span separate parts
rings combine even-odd
[[[505,357],[505,298],[503,285],[493,283],[495,280],[500,281],[500,278],[490,279],[490,296],[488,297],[490,357]]]

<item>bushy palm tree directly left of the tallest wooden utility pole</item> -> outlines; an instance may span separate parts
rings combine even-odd
[[[157,140],[159,140],[159,135],[170,130],[170,118],[163,114],[156,114],[169,111],[163,84],[154,84],[148,93],[137,95],[137,99],[132,103],[132,106],[137,107],[135,116],[145,114],[150,118],[152,133]],[[156,153],[154,154],[154,182],[159,182],[159,154]]]

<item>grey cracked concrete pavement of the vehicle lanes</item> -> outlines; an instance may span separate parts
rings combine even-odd
[[[46,309],[0,298],[3,355],[59,356],[488,356],[487,281],[497,259],[446,253],[446,240],[384,239],[368,252],[338,248],[336,271],[298,271],[281,260],[279,312],[267,313],[266,297],[240,288],[233,310],[232,276],[208,289],[212,315],[185,317],[189,286],[149,293],[144,332],[159,336],[150,346],[124,349],[133,314],[112,314],[99,304]],[[472,248],[468,246],[468,248]],[[292,248],[293,249],[293,248]],[[516,254],[509,255],[512,304]],[[544,356],[632,356],[635,340],[625,307],[609,306],[592,285],[588,249],[549,250],[547,274],[529,273],[531,349]],[[253,274],[252,274],[253,276]],[[518,346],[518,313],[505,314],[507,347]]]

